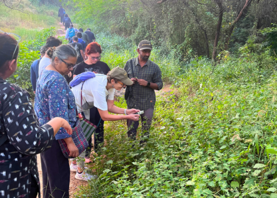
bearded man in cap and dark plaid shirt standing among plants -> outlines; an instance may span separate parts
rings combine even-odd
[[[156,95],[154,90],[160,90],[163,87],[162,72],[159,66],[149,59],[152,44],[149,41],[141,41],[138,46],[139,56],[127,61],[125,71],[128,77],[134,82],[133,94],[126,100],[128,109],[136,108],[143,110],[141,114],[141,125],[144,137],[149,136],[149,129],[152,122]],[[130,62],[133,61],[134,76]],[[128,137],[136,139],[139,121],[127,120]],[[144,138],[144,139],[145,139]]]

